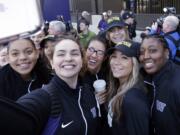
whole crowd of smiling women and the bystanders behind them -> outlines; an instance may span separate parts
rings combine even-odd
[[[161,32],[153,24],[134,42],[132,11],[103,12],[97,35],[89,17],[83,11],[77,29],[67,29],[60,17],[33,36],[1,45],[0,131],[179,135],[179,19],[166,16]],[[97,80],[106,82],[101,91]]]

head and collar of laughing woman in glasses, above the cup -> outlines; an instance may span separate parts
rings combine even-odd
[[[105,52],[107,44],[104,39],[94,37],[89,43],[85,52],[86,73],[84,79],[93,86],[93,82],[98,79],[106,80],[107,59]]]

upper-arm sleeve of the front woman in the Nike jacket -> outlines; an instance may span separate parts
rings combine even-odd
[[[21,104],[36,118],[36,126],[40,133],[45,126],[51,108],[51,101],[49,94],[43,89],[37,89],[30,94],[20,97],[17,103]]]

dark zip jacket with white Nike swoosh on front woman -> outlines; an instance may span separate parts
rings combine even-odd
[[[60,101],[61,104],[59,115],[51,113],[52,99],[45,94],[43,88],[25,95],[17,101],[39,119],[39,131],[42,131],[46,125],[44,132],[48,134],[48,130],[59,119],[59,122],[52,127],[52,129],[57,127],[54,131],[55,135],[95,135],[99,113],[94,94],[92,90],[89,90],[90,87],[78,84],[76,89],[72,89],[57,76],[48,85],[55,90],[54,96],[59,96],[56,98],[57,102]],[[55,107],[53,112],[57,112]],[[53,119],[56,120],[52,124]]]

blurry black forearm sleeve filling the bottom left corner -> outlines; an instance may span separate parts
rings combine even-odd
[[[14,101],[0,97],[0,133],[38,135],[33,114]]]

